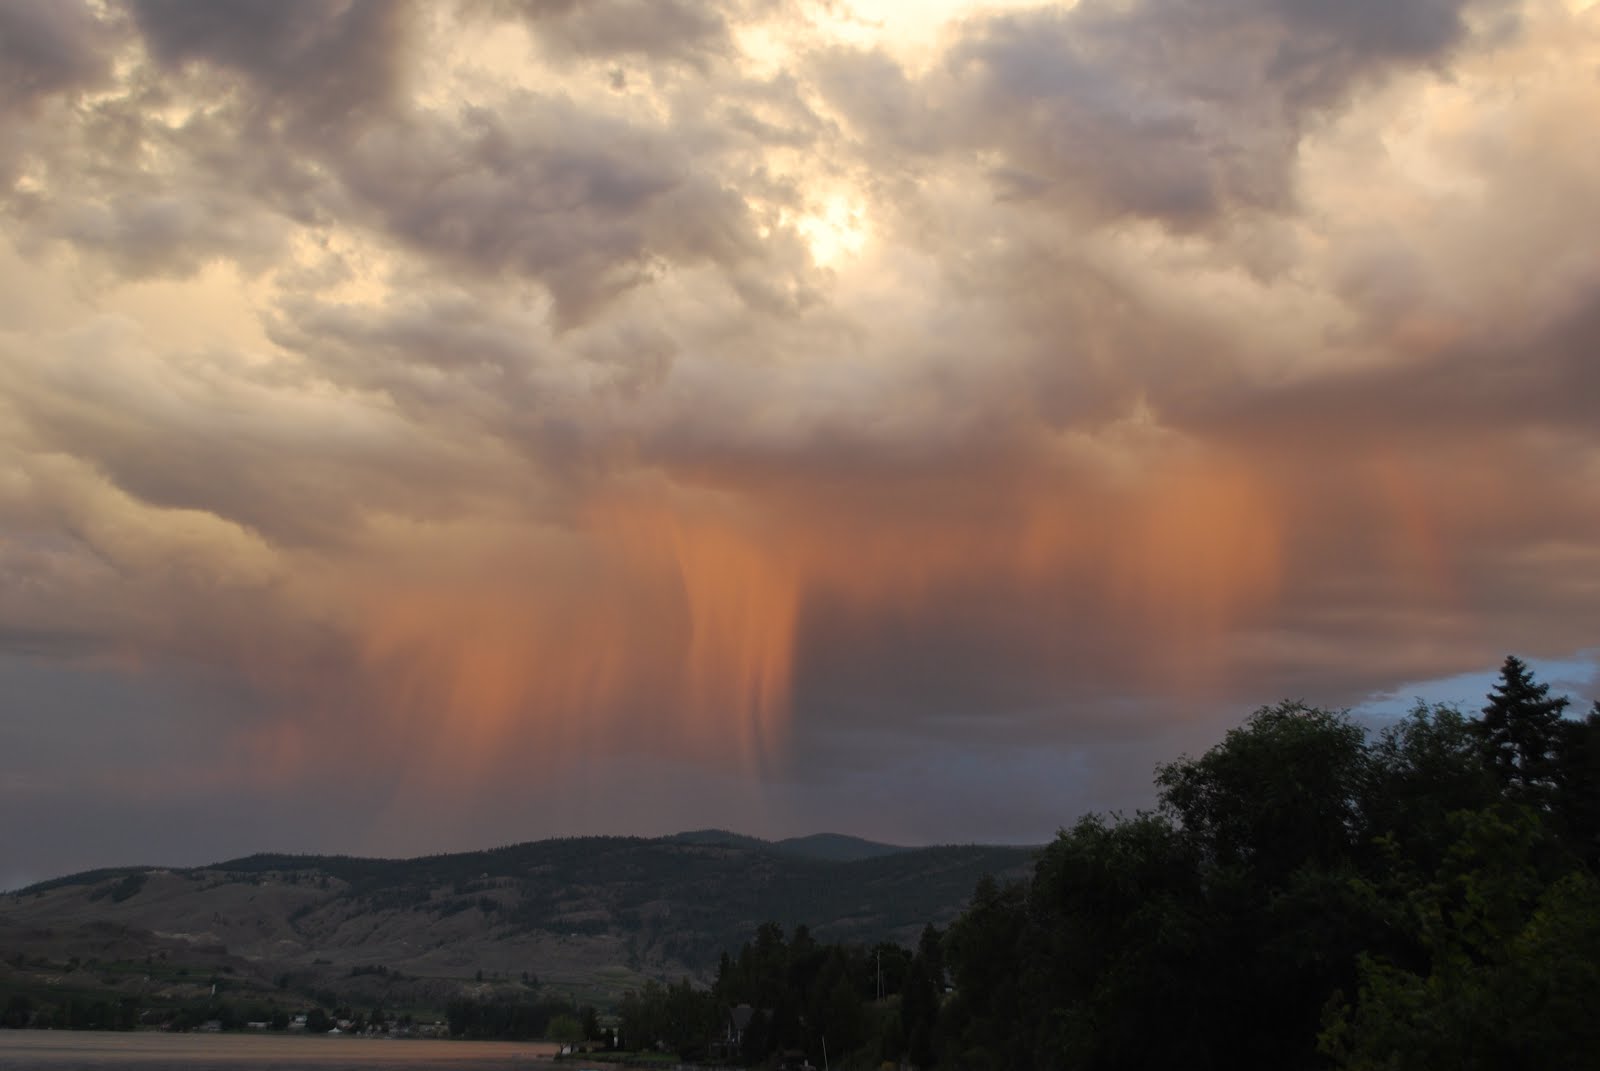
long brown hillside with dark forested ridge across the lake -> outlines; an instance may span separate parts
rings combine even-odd
[[[538,978],[608,1002],[648,978],[707,980],[763,922],[914,945],[923,925],[954,919],[984,874],[1026,872],[1034,850],[691,831],[410,860],[264,852],[99,868],[0,895],[0,946],[11,949],[0,980],[72,961],[102,975],[109,962],[166,964],[352,1001],[437,1005]]]

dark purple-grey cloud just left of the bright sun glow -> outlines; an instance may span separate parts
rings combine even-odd
[[[382,232],[456,267],[541,282],[573,325],[658,263],[760,256],[741,195],[666,131],[522,94],[461,122],[374,130],[341,160]]]

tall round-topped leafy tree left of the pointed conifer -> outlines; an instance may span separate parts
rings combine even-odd
[[[1261,708],[1198,759],[1157,770],[1162,810],[1190,861],[1176,845],[1149,850],[1189,866],[1200,888],[1187,913],[1182,900],[1170,905],[1168,946],[1138,951],[1178,972],[1176,986],[1194,994],[1181,1004],[1192,1012],[1189,1029],[1163,1042],[1170,1058],[1203,1053],[1230,1066],[1315,1058],[1322,1007],[1334,988],[1354,985],[1370,929],[1347,885],[1366,853],[1374,780],[1363,730],[1344,712],[1304,703]],[[1139,962],[1122,949],[1110,957],[1114,972]],[[1096,1029],[1078,1028],[1098,1050],[1099,1020],[1128,1015],[1128,999],[1152,999],[1138,981],[1128,975],[1126,997],[1098,986]],[[1136,1052],[1102,1066],[1133,1066]]]

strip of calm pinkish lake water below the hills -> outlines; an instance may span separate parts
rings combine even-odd
[[[0,1071],[83,1068],[157,1071],[528,1071],[550,1068],[557,1045],[539,1041],[402,1041],[304,1034],[98,1034],[0,1029]]]

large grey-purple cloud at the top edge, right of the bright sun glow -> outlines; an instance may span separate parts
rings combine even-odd
[[[998,154],[1002,199],[1194,229],[1283,211],[1312,112],[1403,66],[1445,66],[1472,0],[1082,3],[970,19],[910,88],[882,54],[821,62],[878,144]]]

